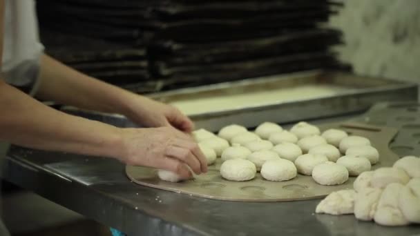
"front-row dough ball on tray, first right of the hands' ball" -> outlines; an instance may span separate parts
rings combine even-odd
[[[220,166],[220,175],[232,181],[247,181],[256,175],[255,165],[245,159],[230,159]]]

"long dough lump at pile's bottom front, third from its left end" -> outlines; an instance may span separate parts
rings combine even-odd
[[[399,193],[403,185],[392,183],[386,186],[379,198],[374,221],[383,226],[405,226],[408,220],[399,209]]]

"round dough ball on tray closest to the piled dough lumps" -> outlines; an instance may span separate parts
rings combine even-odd
[[[349,179],[349,172],[344,166],[328,161],[314,167],[312,178],[321,185],[337,185]]]

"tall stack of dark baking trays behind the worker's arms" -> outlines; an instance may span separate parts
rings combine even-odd
[[[119,85],[150,81],[137,92],[156,92],[341,68],[329,50],[341,43],[341,32],[322,26],[336,6],[327,0],[44,0],[38,14],[43,38],[64,34],[50,40],[57,47],[44,41],[51,54],[76,59],[71,66]],[[89,62],[75,57],[92,50]]]

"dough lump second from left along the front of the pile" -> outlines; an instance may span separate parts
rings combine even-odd
[[[381,188],[362,188],[359,190],[354,199],[354,216],[356,219],[371,221],[376,213],[381,195]]]

